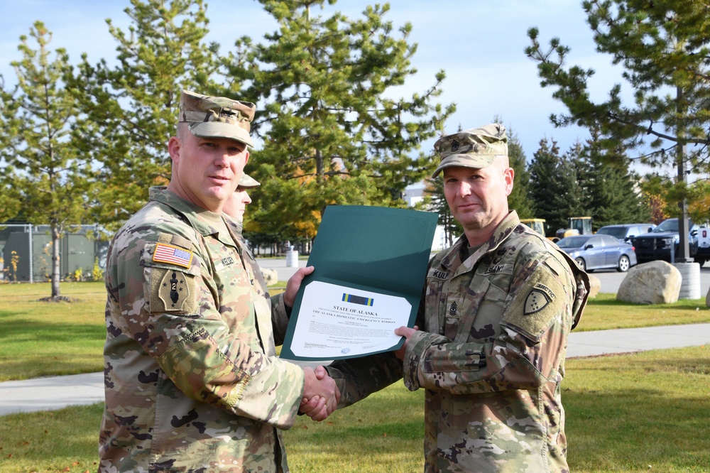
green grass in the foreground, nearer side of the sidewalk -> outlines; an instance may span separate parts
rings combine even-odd
[[[562,399],[573,472],[710,472],[710,347],[570,359]],[[423,391],[393,384],[285,432],[295,473],[422,471]],[[6,415],[0,471],[94,472],[102,407]]]

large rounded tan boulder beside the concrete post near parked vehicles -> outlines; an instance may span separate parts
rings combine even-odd
[[[634,304],[672,304],[678,302],[682,276],[665,261],[651,261],[630,268],[621,281],[616,300]]]

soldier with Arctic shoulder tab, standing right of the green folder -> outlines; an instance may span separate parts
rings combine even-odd
[[[393,354],[328,367],[354,403],[403,376],[426,390],[426,472],[567,472],[561,389],[589,278],[508,210],[505,129],[444,136],[433,177],[464,234],[429,264],[415,330]],[[304,407],[307,411],[307,406]]]

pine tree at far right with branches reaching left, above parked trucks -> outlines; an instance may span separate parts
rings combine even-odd
[[[542,87],[555,87],[552,97],[569,112],[553,115],[552,123],[596,127],[606,149],[638,149],[643,163],[677,167],[673,197],[682,227],[676,261],[692,261],[684,228],[691,197],[686,170],[710,170],[710,4],[706,0],[585,0],[582,8],[597,50],[623,65],[623,78],[634,89],[633,103],[624,104],[620,84],[613,85],[605,102],[593,102],[588,82],[594,70],[565,68],[569,48],[553,38],[550,49],[542,50],[539,31],[530,28],[531,45],[525,53],[537,62]]]

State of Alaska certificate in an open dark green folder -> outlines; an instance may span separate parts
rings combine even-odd
[[[326,207],[280,357],[323,361],[401,347],[415,322],[438,215],[355,205]]]

